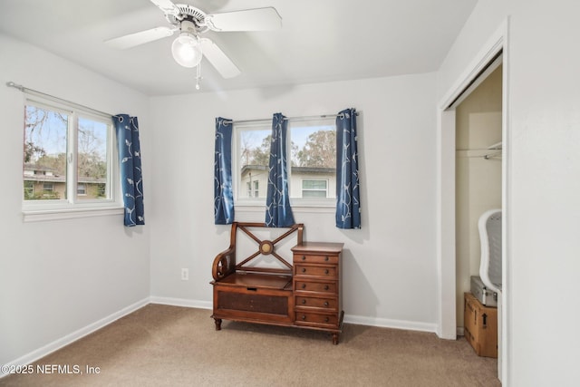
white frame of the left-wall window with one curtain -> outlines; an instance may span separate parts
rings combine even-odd
[[[50,98],[25,94],[23,108],[34,106],[47,111],[60,111],[68,115],[66,128],[66,198],[50,200],[24,199],[24,174],[22,179],[22,212],[24,221],[50,220],[59,218],[84,218],[110,214],[122,214],[123,203],[121,196],[119,156],[116,146],[116,134],[110,115],[89,108],[83,109],[76,104],[67,104]],[[77,198],[78,180],[78,130],[79,119],[101,122],[106,125],[107,178],[106,187],[108,198],[87,199]],[[25,135],[24,115],[21,130]],[[24,164],[23,164],[24,167]]]

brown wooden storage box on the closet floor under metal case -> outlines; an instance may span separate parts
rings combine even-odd
[[[479,356],[498,357],[498,308],[482,305],[465,294],[465,339]]]

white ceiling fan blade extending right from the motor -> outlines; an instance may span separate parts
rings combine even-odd
[[[270,31],[282,27],[282,18],[268,6],[207,15],[206,24],[213,31]]]

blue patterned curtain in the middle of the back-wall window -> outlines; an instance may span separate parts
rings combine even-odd
[[[275,113],[272,121],[272,142],[266,193],[266,226],[287,227],[294,224],[288,193],[286,166],[286,136],[288,121],[282,113]]]

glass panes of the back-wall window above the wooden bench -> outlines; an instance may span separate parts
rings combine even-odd
[[[271,135],[270,122],[234,123],[232,168],[237,205],[266,201]],[[333,206],[336,195],[329,188],[336,184],[335,119],[289,121],[288,142],[288,189],[293,204]]]

